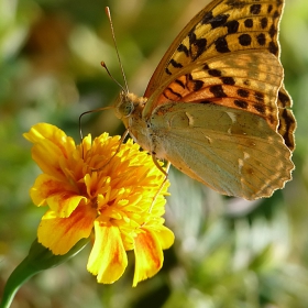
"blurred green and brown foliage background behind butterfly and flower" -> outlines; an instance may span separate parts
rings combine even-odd
[[[0,297],[26,255],[45,209],[29,188],[40,173],[22,138],[37,122],[76,141],[81,112],[109,106],[122,82],[105,7],[110,6],[130,90],[142,95],[176,34],[207,0],[0,0]],[[44,272],[13,308],[308,307],[308,2],[286,0],[280,25],[286,88],[297,117],[293,182],[270,199],[224,198],[172,169],[166,207],[174,246],[163,270],[132,288],[123,277],[98,285],[86,271],[90,248]],[[84,118],[85,134],[121,134],[105,111]]]

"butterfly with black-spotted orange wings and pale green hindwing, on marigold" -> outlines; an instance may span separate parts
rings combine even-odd
[[[222,195],[254,200],[283,188],[296,129],[279,62],[283,8],[215,0],[195,15],[144,96],[122,91],[114,105],[134,141]]]

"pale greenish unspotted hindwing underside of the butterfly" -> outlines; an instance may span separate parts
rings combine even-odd
[[[292,178],[290,151],[266,121],[211,103],[166,103],[151,117],[152,152],[220,194],[272,196]]]

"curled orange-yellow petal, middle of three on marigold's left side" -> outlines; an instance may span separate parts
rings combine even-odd
[[[68,217],[86,197],[79,196],[69,183],[59,182],[53,176],[41,174],[30,196],[34,205],[41,207],[47,204],[57,217]]]

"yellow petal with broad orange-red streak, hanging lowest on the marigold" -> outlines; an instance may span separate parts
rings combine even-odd
[[[133,287],[154,276],[163,266],[164,254],[155,232],[144,229],[135,238],[135,272]]]

